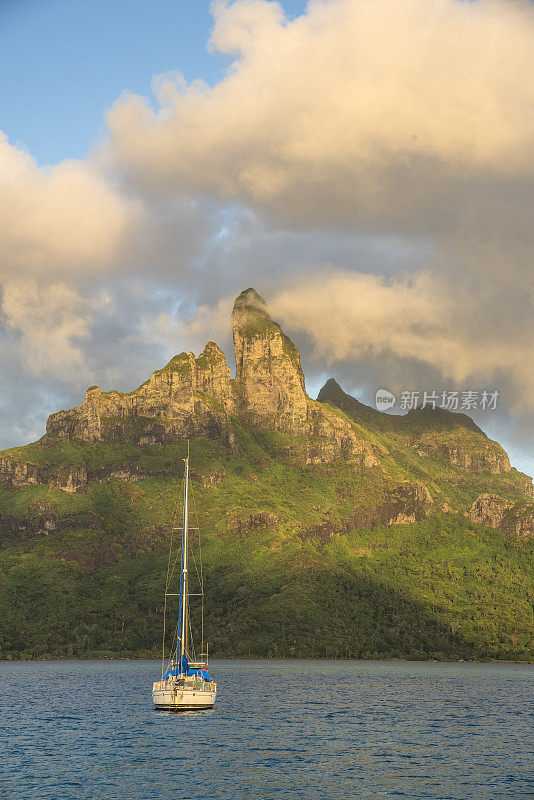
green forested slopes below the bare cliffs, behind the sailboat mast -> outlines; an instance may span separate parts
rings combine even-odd
[[[191,443],[211,655],[532,660],[532,539],[437,507],[411,524],[352,524],[349,510],[372,499],[383,472],[298,466],[285,444],[245,426],[232,452]],[[80,493],[1,490],[0,657],[159,655],[184,446],[18,451],[50,469],[83,457],[93,477]],[[141,465],[142,477],[110,477],[117,463]],[[438,466],[435,497],[446,485]],[[452,496],[467,504],[494,480],[449,471]]]

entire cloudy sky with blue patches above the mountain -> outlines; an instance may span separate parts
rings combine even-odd
[[[533,68],[522,0],[0,0],[0,447],[254,286],[312,396],[474,396],[532,475]]]

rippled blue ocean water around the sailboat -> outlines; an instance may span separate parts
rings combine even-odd
[[[528,665],[215,661],[213,710],[155,661],[0,663],[8,800],[534,800]]]

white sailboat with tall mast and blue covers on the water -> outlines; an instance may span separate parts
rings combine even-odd
[[[202,645],[200,658],[195,658],[193,647],[193,636],[189,618],[189,598],[193,596],[189,593],[188,581],[188,502],[189,502],[189,442],[187,443],[187,458],[185,462],[184,478],[184,513],[181,549],[181,570],[180,570],[180,592],[170,592],[172,577],[178,561],[178,555],[173,561],[173,532],[180,530],[173,524],[171,532],[171,544],[169,549],[169,562],[167,567],[167,580],[165,584],[165,608],[163,613],[163,655],[161,662],[161,680],[155,681],[152,687],[152,700],[158,709],[167,711],[195,711],[205,708],[212,708],[217,695],[217,684],[212,679],[208,671],[208,648],[206,653],[202,652],[204,646],[204,624],[202,619]],[[177,515],[175,515],[176,521]],[[200,572],[200,596],[203,598],[204,582],[202,571]],[[195,593],[198,596],[198,593]],[[180,598],[178,625],[176,628],[176,638],[171,647],[171,654],[168,662],[165,662],[165,618],[167,613],[167,598]],[[204,604],[202,603],[202,615]]]

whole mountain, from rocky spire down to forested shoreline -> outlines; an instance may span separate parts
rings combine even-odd
[[[0,657],[155,655],[191,444],[218,655],[530,660],[532,481],[463,414],[380,413],[247,289],[209,342],[0,453]]]

